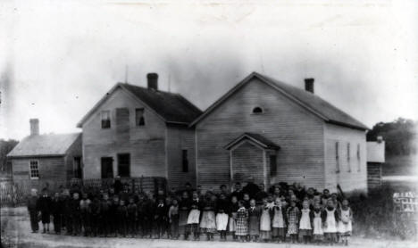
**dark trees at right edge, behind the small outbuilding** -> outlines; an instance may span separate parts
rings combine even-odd
[[[372,130],[367,132],[367,141],[376,141],[382,136],[386,142],[387,155],[416,154],[416,130],[418,121],[398,118],[392,122],[376,123]]]

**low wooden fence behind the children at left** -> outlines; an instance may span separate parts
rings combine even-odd
[[[26,203],[26,199],[30,194],[30,190],[35,188],[40,191],[46,188],[49,194],[60,192],[63,188],[79,188],[81,190],[100,190],[108,189],[114,185],[114,178],[109,179],[71,179],[68,182],[42,182],[34,183],[33,181],[21,182],[2,182],[0,184],[0,207],[4,206],[20,206]],[[153,192],[167,189],[167,181],[165,178],[158,177],[140,177],[140,178],[121,178],[121,183],[130,186],[131,189],[139,192]]]

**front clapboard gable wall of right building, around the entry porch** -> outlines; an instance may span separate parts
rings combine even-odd
[[[262,107],[263,114],[253,114],[255,106]],[[230,161],[224,145],[243,132],[253,132],[280,145],[278,175],[271,178],[272,183],[296,181],[323,188],[322,125],[311,112],[253,79],[197,123],[197,183],[227,184]]]

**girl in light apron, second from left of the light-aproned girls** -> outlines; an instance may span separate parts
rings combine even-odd
[[[213,233],[216,232],[216,220],[214,215],[216,196],[207,193],[206,200],[203,205],[202,219],[200,228],[206,233],[207,240],[213,240]]]

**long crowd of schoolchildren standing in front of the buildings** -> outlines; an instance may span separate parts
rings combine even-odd
[[[278,184],[267,192],[263,185],[235,184],[230,192],[222,185],[217,193],[198,186],[143,194],[128,185],[108,190],[63,189],[53,197],[46,189],[32,190],[28,210],[33,232],[42,220],[49,232],[71,236],[166,236],[199,240],[204,234],[222,241],[230,235],[241,242],[348,244],[353,212],[347,199],[298,184]]]

